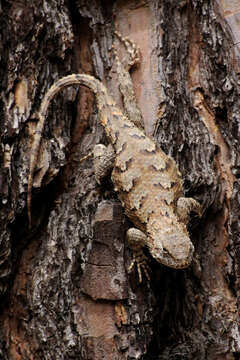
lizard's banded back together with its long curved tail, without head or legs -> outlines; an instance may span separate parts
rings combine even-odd
[[[90,88],[96,95],[99,120],[116,152],[112,174],[115,189],[125,207],[127,216],[140,229],[145,230],[151,213],[164,208],[173,211],[176,199],[183,194],[182,180],[175,161],[162,150],[156,149],[154,142],[144,132],[130,122],[117,108],[108,95],[105,86],[93,76],[73,74],[54,83],[45,94],[39,111],[39,122],[30,156],[28,178],[28,216],[31,223],[30,205],[33,173],[37,163],[41,134],[51,100],[64,87],[74,84]],[[174,181],[176,179],[176,181]]]

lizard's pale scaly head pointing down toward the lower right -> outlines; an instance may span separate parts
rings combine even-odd
[[[156,230],[156,226],[148,229],[148,248],[153,258],[175,269],[188,267],[194,246],[185,225],[178,223]]]

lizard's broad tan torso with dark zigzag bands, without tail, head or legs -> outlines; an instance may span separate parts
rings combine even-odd
[[[175,161],[167,156],[143,131],[120,130],[115,144],[116,161],[112,180],[126,215],[142,231],[152,214],[161,221],[178,221],[176,203],[183,195],[183,181]]]

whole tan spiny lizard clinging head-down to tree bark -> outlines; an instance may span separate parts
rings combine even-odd
[[[48,106],[61,89],[74,84],[86,86],[95,94],[99,122],[111,144],[110,148],[101,147],[99,158],[111,163],[114,190],[126,216],[135,226],[127,231],[127,239],[133,250],[129,269],[136,262],[139,281],[142,281],[141,268],[148,277],[144,247],[163,265],[175,269],[188,267],[193,258],[194,246],[187,224],[191,211],[201,215],[200,204],[184,196],[183,178],[175,160],[123,114],[103,83],[91,75],[72,74],[59,79],[49,88],[41,102],[29,165],[29,226],[33,175]],[[104,151],[106,156],[103,156]],[[98,157],[98,152],[95,151],[95,157]],[[97,180],[100,181],[101,166],[98,172],[100,175]]]

